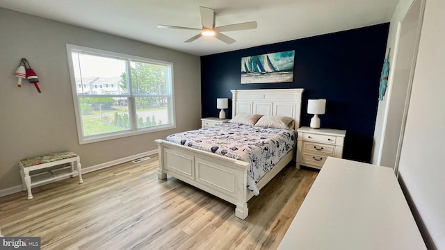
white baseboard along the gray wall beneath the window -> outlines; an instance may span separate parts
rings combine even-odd
[[[94,172],[96,170],[104,169],[106,167],[113,167],[113,166],[121,164],[121,163],[127,163],[130,160],[135,160],[135,159],[142,158],[145,156],[151,156],[152,154],[155,154],[155,153],[158,153],[157,149],[152,150],[152,151],[147,151],[144,153],[138,153],[133,156],[127,156],[127,157],[120,158],[117,160],[111,160],[108,163],[101,163],[101,164],[90,166],[90,167],[82,167],[82,174]],[[70,176],[67,176],[66,178],[70,178]],[[62,179],[62,178],[60,178],[60,179]],[[57,179],[56,181],[59,181],[60,179]],[[83,180],[85,181],[85,178],[83,178]],[[47,184],[47,183],[43,183],[43,184]],[[23,185],[16,185],[16,186],[13,186],[10,188],[5,188],[5,189],[0,190],[0,197],[4,197],[9,194],[15,194],[17,192],[22,192],[22,191],[23,191]]]

